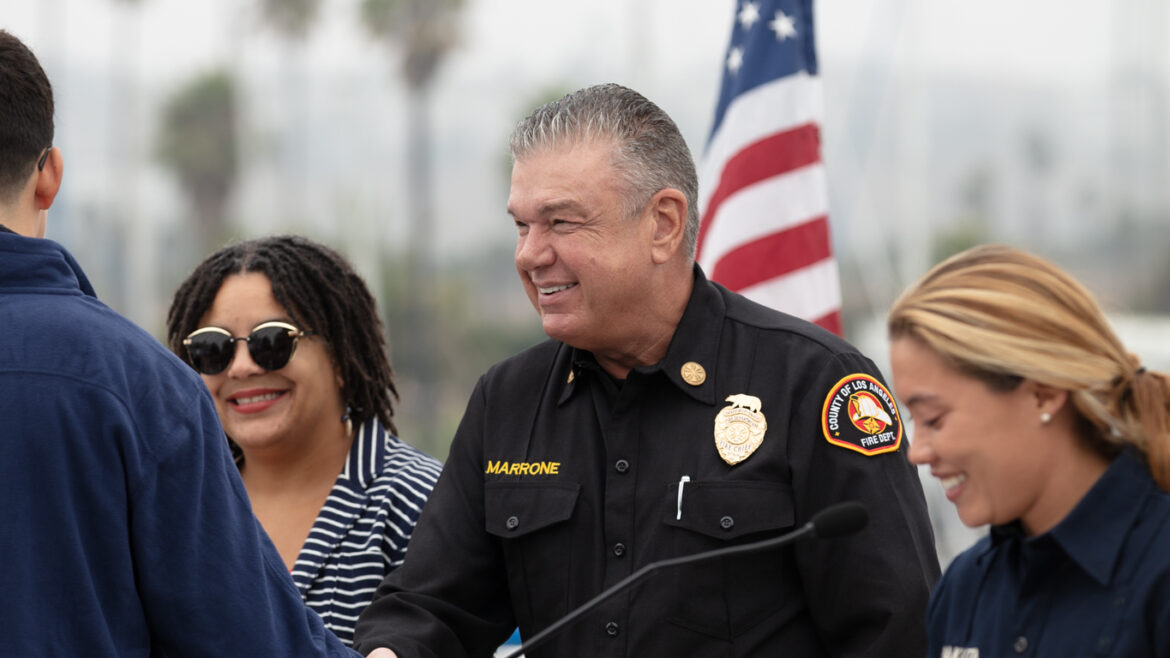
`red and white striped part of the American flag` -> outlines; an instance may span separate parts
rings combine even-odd
[[[741,94],[700,165],[698,263],[757,302],[841,334],[841,287],[820,159],[820,80]]]

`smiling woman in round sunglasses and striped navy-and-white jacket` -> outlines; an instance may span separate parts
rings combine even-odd
[[[232,245],[179,287],[167,342],[207,384],[305,602],[352,643],[440,471],[394,436],[398,391],[365,283],[305,238]]]

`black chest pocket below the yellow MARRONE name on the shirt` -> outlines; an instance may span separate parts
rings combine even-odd
[[[508,588],[522,626],[543,628],[567,610],[576,551],[569,521],[578,506],[574,482],[488,482],[483,489],[488,534],[501,540]]]

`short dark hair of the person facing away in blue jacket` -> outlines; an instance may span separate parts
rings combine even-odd
[[[0,29],[0,201],[11,201],[53,145],[53,85],[36,55]]]

